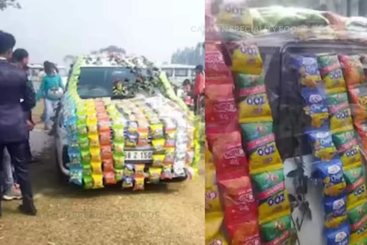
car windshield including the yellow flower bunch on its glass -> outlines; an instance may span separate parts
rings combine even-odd
[[[147,69],[140,69],[139,74],[149,76]],[[136,84],[137,75],[130,68],[124,67],[82,67],[77,85],[80,98],[133,97],[130,90]]]

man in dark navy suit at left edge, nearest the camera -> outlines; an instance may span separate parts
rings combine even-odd
[[[22,191],[23,203],[19,206],[19,210],[29,215],[36,215],[26,159],[27,112],[34,107],[36,101],[34,93],[30,94],[30,90],[27,89],[26,72],[7,61],[12,57],[14,46],[14,36],[0,31],[0,159],[3,159],[6,147]],[[1,199],[2,195],[3,192],[0,194]]]

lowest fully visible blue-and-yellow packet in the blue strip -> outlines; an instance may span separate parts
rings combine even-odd
[[[346,195],[341,194],[337,197],[325,196],[324,200],[325,227],[336,228],[346,219]]]

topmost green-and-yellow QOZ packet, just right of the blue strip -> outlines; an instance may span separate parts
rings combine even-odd
[[[345,80],[338,60],[338,55],[317,55],[317,64],[320,68],[320,74],[324,82],[326,93],[339,93],[346,91]]]

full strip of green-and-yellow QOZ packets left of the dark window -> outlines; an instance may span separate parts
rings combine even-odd
[[[284,244],[291,239],[291,216],[283,162],[275,143],[273,119],[257,46],[227,42],[236,84],[238,122],[248,153],[249,169],[258,203],[262,244]]]

